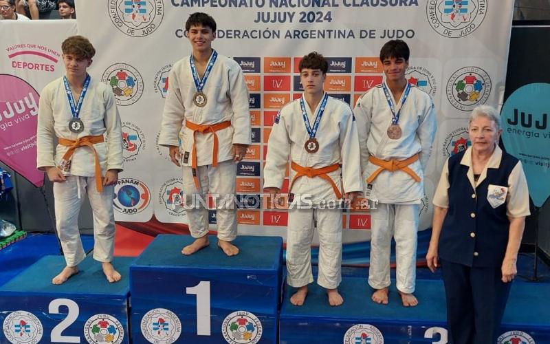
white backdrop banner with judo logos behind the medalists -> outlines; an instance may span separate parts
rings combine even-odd
[[[206,12],[217,21],[214,48],[241,65],[250,91],[254,143],[239,164],[239,197],[263,191],[274,116],[302,92],[301,56],[325,55],[325,89],[353,107],[383,80],[380,47],[389,39],[404,39],[411,49],[407,78],[433,98],[437,109],[439,133],[421,200],[425,229],[443,162],[470,144],[468,114],[476,105],[502,104],[514,1],[81,0],[77,6],[85,14],[79,16],[78,32],[98,50],[91,74],[111,85],[124,122],[125,166],[116,191],[131,186],[126,195],[131,189],[139,196],[138,202],[119,202],[116,219],[146,222],[154,213],[162,222],[186,221],[184,209],[174,202],[181,197],[181,171],[157,140],[168,72],[190,54],[184,23],[192,12]],[[287,211],[245,203],[239,233],[285,237]],[[342,222],[344,242],[370,238],[368,212],[346,211]],[[215,226],[214,211],[210,223]]]

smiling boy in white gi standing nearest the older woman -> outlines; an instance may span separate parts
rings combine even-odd
[[[405,78],[409,49],[401,40],[380,50],[386,80],[359,98],[353,113],[361,146],[364,194],[371,209],[369,285],[376,303],[388,303],[391,237],[395,238],[397,290],[405,306],[415,291],[419,204],[436,131],[432,100]]]

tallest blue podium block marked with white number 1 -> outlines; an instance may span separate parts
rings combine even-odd
[[[194,239],[159,235],[131,274],[134,343],[277,343],[281,237],[239,236],[239,255],[210,246],[190,256]]]

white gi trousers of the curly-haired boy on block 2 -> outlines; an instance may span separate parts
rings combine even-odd
[[[54,183],[56,226],[67,266],[78,266],[86,257],[78,230],[78,213],[88,195],[94,214],[94,259],[113,260],[115,245],[115,215],[113,213],[114,185],[96,188],[95,177],[68,175],[67,180]]]

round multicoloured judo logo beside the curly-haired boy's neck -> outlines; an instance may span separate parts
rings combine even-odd
[[[101,81],[111,86],[117,105],[132,105],[143,94],[143,78],[140,72],[126,63],[115,63],[103,72]]]

